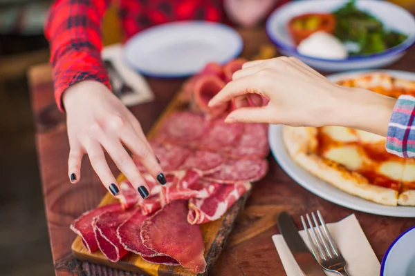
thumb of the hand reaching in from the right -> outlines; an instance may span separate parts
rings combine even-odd
[[[226,123],[267,123],[274,121],[275,115],[268,106],[259,108],[239,108],[230,112],[225,118]]]

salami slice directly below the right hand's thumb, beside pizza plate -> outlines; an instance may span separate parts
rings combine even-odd
[[[270,151],[268,126],[265,124],[244,124],[243,134],[237,146],[225,149],[233,158],[264,158]]]

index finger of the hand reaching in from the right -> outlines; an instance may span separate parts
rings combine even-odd
[[[208,106],[219,106],[221,103],[230,101],[230,99],[233,99],[234,97],[246,95],[248,93],[263,95],[264,92],[261,90],[260,86],[261,85],[255,76],[230,81],[209,101]]]

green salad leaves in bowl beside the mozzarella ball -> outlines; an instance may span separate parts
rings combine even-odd
[[[333,12],[337,21],[334,35],[342,42],[354,42],[360,47],[350,55],[372,54],[392,48],[407,39],[407,35],[385,29],[383,23],[356,7],[351,0]]]

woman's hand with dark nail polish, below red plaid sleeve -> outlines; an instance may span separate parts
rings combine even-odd
[[[149,187],[124,149],[126,146],[160,184],[165,184],[163,171],[136,117],[106,86],[97,81],[76,83],[64,92],[63,103],[71,146],[68,174],[73,183],[80,179],[82,157],[87,154],[102,184],[111,194],[118,195],[119,186],[104,157],[106,150],[138,193],[147,197]]]

